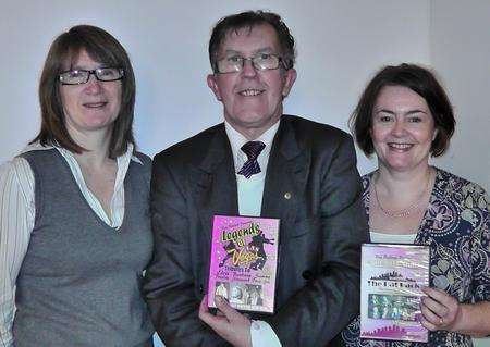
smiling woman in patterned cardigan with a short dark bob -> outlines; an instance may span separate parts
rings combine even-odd
[[[378,158],[363,177],[373,243],[430,246],[430,286],[421,303],[428,344],[359,338],[353,321],[332,346],[471,346],[490,333],[490,216],[485,190],[429,164],[455,120],[428,70],[387,66],[366,87],[351,117],[357,145]]]

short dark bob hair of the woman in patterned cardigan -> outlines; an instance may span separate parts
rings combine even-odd
[[[429,70],[406,63],[382,67],[368,83],[348,122],[357,146],[367,157],[375,151],[371,138],[372,111],[381,89],[387,86],[409,88],[426,100],[438,131],[430,152],[433,157],[443,154],[456,124],[453,108],[444,89]]]

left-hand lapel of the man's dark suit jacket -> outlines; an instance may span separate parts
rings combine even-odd
[[[233,154],[223,124],[217,127],[209,144],[203,144],[203,150],[207,152],[200,164],[191,168],[191,182],[203,231],[210,245],[213,215],[238,214]]]

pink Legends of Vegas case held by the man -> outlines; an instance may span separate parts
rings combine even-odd
[[[221,295],[240,311],[274,312],[279,220],[215,215],[208,307]]]

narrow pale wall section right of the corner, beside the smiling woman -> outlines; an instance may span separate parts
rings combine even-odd
[[[450,151],[438,164],[490,190],[490,1],[433,0],[430,58],[456,113]]]

